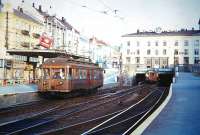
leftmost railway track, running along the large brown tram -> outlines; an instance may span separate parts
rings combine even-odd
[[[89,100],[92,100],[93,98],[95,99],[100,96],[103,96],[104,94],[113,93],[117,91],[117,89],[118,89],[117,87],[105,89],[105,91],[104,89],[102,89],[98,91],[98,93],[92,94],[89,96],[74,97],[74,98],[62,99],[62,100],[42,99],[42,100],[33,101],[29,103],[10,106],[8,108],[3,108],[3,109],[0,109],[0,125],[9,123],[11,121],[12,122],[19,121],[27,117],[33,117],[38,114],[48,112],[48,110],[54,110],[62,106],[69,106],[69,104],[87,102]]]

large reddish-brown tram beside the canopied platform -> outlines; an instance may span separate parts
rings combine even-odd
[[[42,65],[40,93],[70,93],[103,86],[103,69],[96,64],[71,57],[46,60]]]

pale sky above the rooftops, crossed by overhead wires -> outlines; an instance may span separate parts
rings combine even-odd
[[[24,0],[25,4],[33,2],[44,11],[65,17],[85,36],[110,44],[118,44],[122,35],[137,29],[198,29],[200,18],[200,0]]]

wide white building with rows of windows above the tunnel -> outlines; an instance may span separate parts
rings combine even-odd
[[[122,36],[123,69],[196,64],[200,60],[200,30],[139,32]]]

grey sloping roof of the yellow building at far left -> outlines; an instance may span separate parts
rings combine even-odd
[[[13,13],[14,15],[18,16],[18,17],[21,17],[23,19],[26,19],[26,20],[29,20],[29,21],[32,21],[34,23],[37,23],[37,24],[42,24],[40,23],[38,20],[36,20],[35,18],[31,17],[30,15],[27,15],[25,14],[24,12],[21,12],[17,9],[13,9]]]

